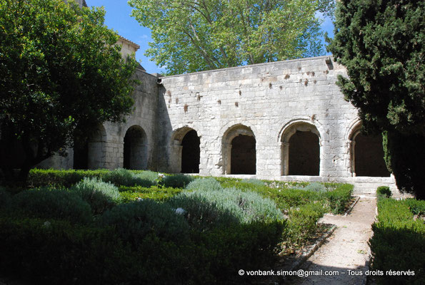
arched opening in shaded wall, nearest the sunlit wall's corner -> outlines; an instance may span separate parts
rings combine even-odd
[[[147,167],[147,138],[144,130],[134,125],[124,136],[124,168],[144,170]]]

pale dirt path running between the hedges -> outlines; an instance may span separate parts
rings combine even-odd
[[[321,222],[338,228],[301,266],[311,276],[291,278],[285,284],[365,284],[375,211],[376,199],[361,197],[346,217],[326,215]]]

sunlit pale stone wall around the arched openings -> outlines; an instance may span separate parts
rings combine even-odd
[[[255,177],[351,180],[351,138],[360,123],[335,84],[339,74],[346,76],[345,68],[323,56],[161,78],[159,168],[180,172],[181,140],[195,130],[201,175],[231,175],[231,142],[251,135]],[[319,139],[319,176],[288,175],[289,140],[296,132]],[[383,179],[394,184],[392,177]]]

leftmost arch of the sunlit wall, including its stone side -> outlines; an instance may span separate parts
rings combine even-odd
[[[184,126],[174,131],[171,141],[176,172],[199,173],[201,137],[196,130]]]

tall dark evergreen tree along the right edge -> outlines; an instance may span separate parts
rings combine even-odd
[[[400,190],[425,195],[425,2],[342,0],[329,51],[349,78],[337,84],[366,131],[383,133]]]

